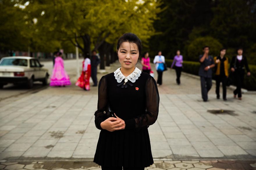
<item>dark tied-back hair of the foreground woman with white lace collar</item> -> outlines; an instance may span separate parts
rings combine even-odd
[[[141,55],[141,50],[142,50],[141,40],[137,37],[137,35],[131,32],[123,34],[117,41],[117,46],[116,46],[117,51],[119,51],[120,46],[123,42],[136,44],[138,46],[139,55]]]

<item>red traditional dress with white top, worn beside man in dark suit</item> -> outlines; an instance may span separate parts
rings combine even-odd
[[[86,58],[83,60],[83,70],[81,76],[76,82],[76,86],[83,88],[84,90],[90,90],[90,76],[91,76],[91,60]]]

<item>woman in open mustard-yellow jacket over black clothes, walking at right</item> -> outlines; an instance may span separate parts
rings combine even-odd
[[[227,77],[228,77],[228,58],[224,57],[226,54],[226,49],[222,48],[220,50],[220,55],[214,57],[214,62],[217,67],[216,69],[216,95],[217,99],[220,99],[220,83],[222,83],[223,90],[223,100],[226,101],[227,89]]]

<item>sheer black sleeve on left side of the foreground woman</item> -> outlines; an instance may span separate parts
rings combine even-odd
[[[104,116],[104,111],[106,110],[107,106],[107,83],[106,78],[103,76],[99,80],[99,88],[98,88],[98,108],[97,111],[94,113],[95,115],[95,126],[97,129],[102,130],[100,124],[104,120],[106,120]]]

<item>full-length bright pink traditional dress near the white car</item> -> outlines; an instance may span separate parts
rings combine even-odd
[[[67,86],[70,84],[69,75],[64,69],[63,59],[61,57],[56,57],[54,68],[52,70],[50,86]]]

